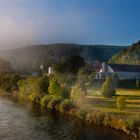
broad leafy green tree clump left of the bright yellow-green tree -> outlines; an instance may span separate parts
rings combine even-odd
[[[31,101],[39,101],[48,94],[48,79],[46,77],[28,77],[18,82],[20,97]]]

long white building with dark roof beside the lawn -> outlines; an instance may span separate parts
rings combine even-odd
[[[118,79],[140,79],[140,65],[102,63],[95,79],[105,79],[107,76],[117,75]]]

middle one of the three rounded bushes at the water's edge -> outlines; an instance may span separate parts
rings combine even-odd
[[[62,98],[61,98],[61,97],[53,97],[53,98],[50,100],[50,102],[49,102],[49,104],[48,104],[48,107],[54,109],[55,106],[56,106],[57,104],[60,104],[61,102],[62,102]]]

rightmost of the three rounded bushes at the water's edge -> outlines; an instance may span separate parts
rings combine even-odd
[[[61,103],[61,111],[62,112],[66,112],[69,111],[70,109],[72,109],[74,107],[74,104],[72,101],[65,99],[62,103]]]

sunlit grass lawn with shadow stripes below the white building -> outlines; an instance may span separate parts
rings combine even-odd
[[[118,96],[123,96],[126,101],[125,108],[121,111],[116,106],[116,98]],[[88,88],[85,104],[94,110],[140,114],[140,90],[117,89],[115,97],[105,98],[101,95],[100,90]]]

